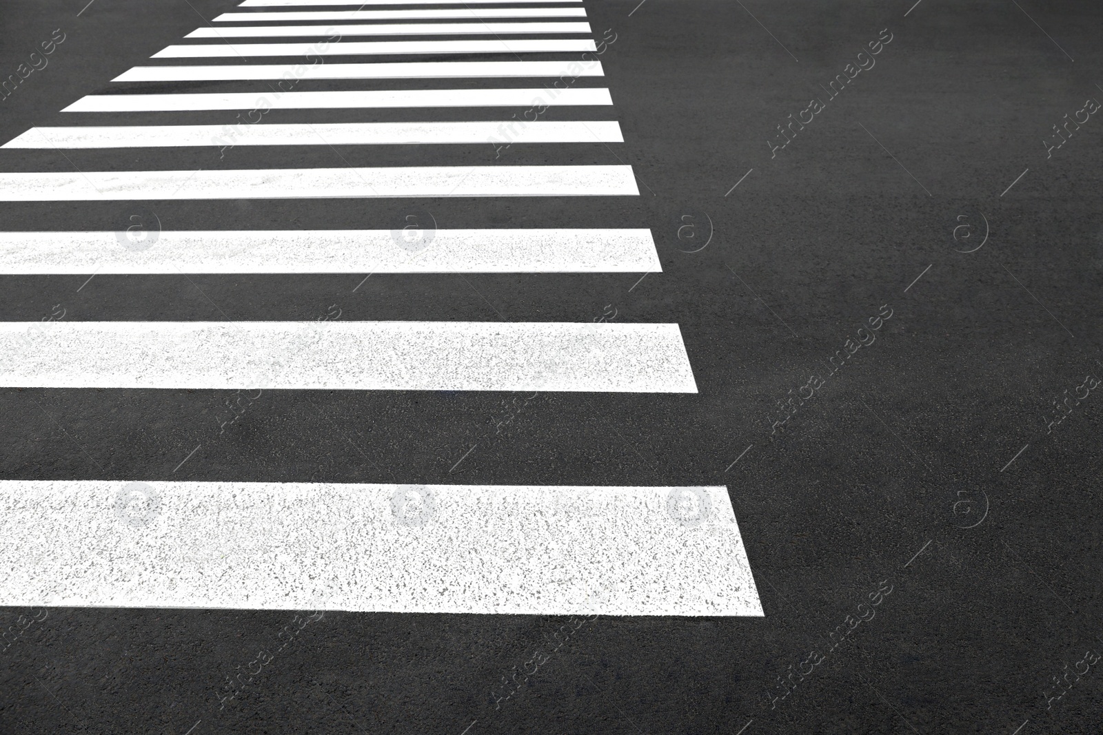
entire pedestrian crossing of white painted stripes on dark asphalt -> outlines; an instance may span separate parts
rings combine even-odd
[[[417,7],[425,4],[437,7]],[[542,228],[524,215],[535,197],[640,193],[629,164],[579,163],[554,152],[568,144],[611,151],[623,142],[618,122],[578,117],[613,104],[608,88],[593,86],[604,77],[595,41],[570,37],[591,33],[586,8],[580,0],[480,4],[513,7],[245,0],[240,11],[217,15],[113,80],[131,87],[65,107],[72,125],[35,126],[2,145],[10,154],[126,155],[119,165],[0,171],[0,202],[493,197],[515,199],[522,214],[511,216],[529,227],[441,228],[415,248],[386,228],[390,223],[173,229],[140,248],[114,231],[0,233],[0,274],[662,272],[646,229]],[[332,10],[343,6],[356,9]],[[451,35],[488,37],[417,37]],[[292,41],[249,41],[268,37]],[[293,41],[310,37],[325,41]],[[493,58],[503,54],[512,58]],[[261,63],[302,56],[310,61]],[[350,56],[364,61],[328,61]],[[201,58],[225,63],[172,63]],[[553,77],[570,82],[553,87]],[[289,79],[307,88],[268,84]],[[207,83],[216,90],[195,91]],[[147,84],[156,93],[144,91]],[[435,88],[440,84],[456,88]],[[552,106],[567,108],[569,119],[518,120],[503,111]],[[449,111],[417,119],[427,108]],[[481,108],[490,109],[476,115]],[[221,126],[194,117],[258,109],[288,117],[242,125],[238,116]],[[355,120],[296,119],[301,110],[353,110]],[[372,110],[411,119],[373,119],[379,112]],[[356,147],[360,160],[371,160],[413,143],[428,165],[334,166],[332,155],[324,165],[307,163],[334,145]],[[488,143],[553,152],[538,165],[501,163]],[[250,167],[232,160],[194,170],[126,163],[137,160],[131,151],[238,145],[255,151]],[[488,155],[471,155],[470,165],[438,153],[480,147]],[[663,323],[0,322],[0,380],[18,388],[697,392],[681,328]],[[142,523],[116,502],[130,486],[143,488],[147,505],[156,500],[156,512],[139,512]],[[42,547],[50,538],[71,544]],[[35,562],[12,564],[20,569],[0,604],[265,609],[309,601],[325,609],[422,613],[762,614],[724,487],[0,482],[0,562],[23,558],[29,544]],[[250,551],[225,560],[231,545]]]

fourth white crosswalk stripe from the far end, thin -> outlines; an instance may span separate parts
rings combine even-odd
[[[528,54],[596,51],[588,39],[493,39],[488,41],[339,41],[326,43],[215,43],[165,46],[150,58],[218,56],[372,56],[385,54]]]

